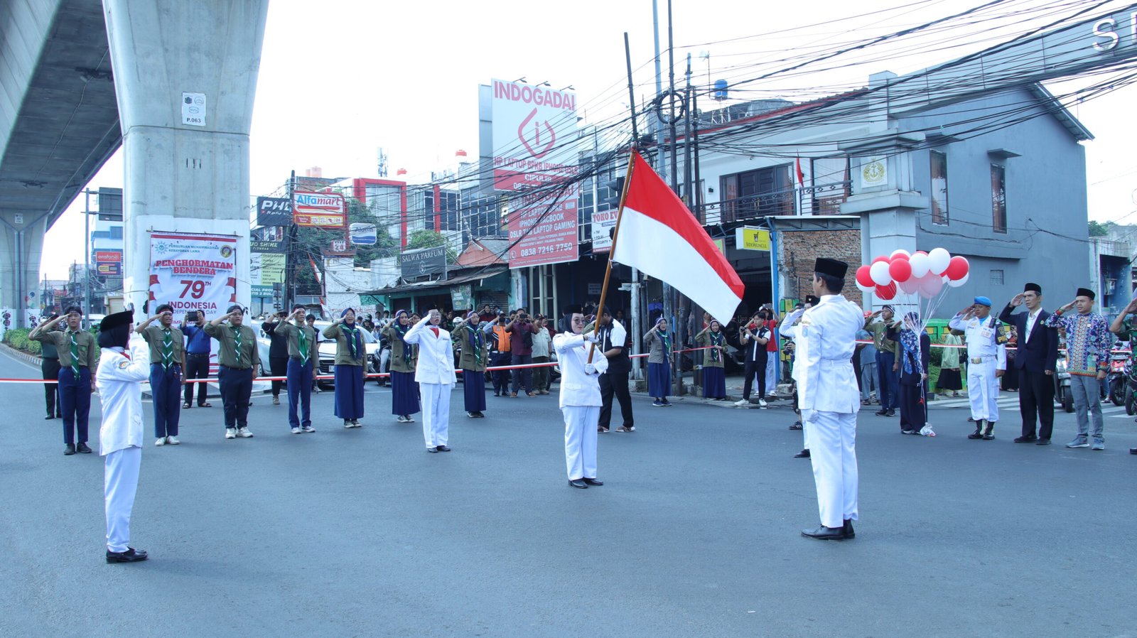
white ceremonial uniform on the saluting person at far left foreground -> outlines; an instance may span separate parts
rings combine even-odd
[[[96,386],[102,404],[99,454],[105,456],[103,499],[107,550],[126,552],[131,511],[142,463],[142,381],[150,378],[150,346],[131,332],[130,357],[121,348],[102,348]]]

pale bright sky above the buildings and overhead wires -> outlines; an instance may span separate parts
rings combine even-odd
[[[805,67],[749,84],[753,91],[737,97],[800,101],[863,86],[871,73],[903,75],[954,59],[1065,15],[1076,3],[1004,0],[976,14],[970,27],[868,48],[841,58],[848,60],[841,68]],[[659,0],[664,84],[666,5]],[[804,11],[806,3],[673,0],[677,83],[688,52],[694,83],[733,82],[783,67],[781,60],[792,55],[863,41],[978,5],[980,0],[811,0]],[[1120,6],[1118,0],[1106,8]],[[377,176],[380,147],[389,157],[389,174],[405,168],[412,180],[425,181],[431,171],[449,167],[458,149],[476,157],[478,85],[493,78],[548,81],[553,89],[571,85],[584,124],[619,117],[628,109],[623,33],[629,33],[639,105],[655,91],[653,28],[650,0],[272,0],[250,134],[250,193],[271,194],[290,171],[302,175],[313,166],[325,177]],[[699,56],[704,51],[708,57]],[[335,90],[310,90],[322,85]],[[1128,117],[1135,98],[1137,90],[1128,86],[1071,106],[1096,136],[1085,143],[1090,219],[1137,223],[1137,154]],[[122,175],[119,151],[89,188],[121,188]],[[66,279],[67,266],[82,255],[82,205],[80,197],[49,230],[41,277]]]

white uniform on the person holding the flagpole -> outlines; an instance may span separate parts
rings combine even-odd
[[[608,358],[599,346],[592,356],[594,374],[584,372],[591,349],[583,334],[561,332],[553,338],[561,370],[561,414],[565,420],[565,465],[568,480],[596,478],[596,438],[600,422],[600,374]]]

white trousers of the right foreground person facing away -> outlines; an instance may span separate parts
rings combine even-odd
[[[808,412],[802,416],[808,421]],[[839,528],[845,520],[857,520],[856,413],[814,412],[805,424],[810,432],[810,459],[818,486],[818,512],[821,524]]]

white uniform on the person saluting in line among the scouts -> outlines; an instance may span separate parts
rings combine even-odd
[[[418,320],[402,340],[418,345],[418,363],[415,381],[423,401],[423,438],[426,447],[445,446],[450,430],[450,390],[457,382],[454,372],[454,345],[450,333],[438,328],[438,335],[431,328],[430,315]]]

